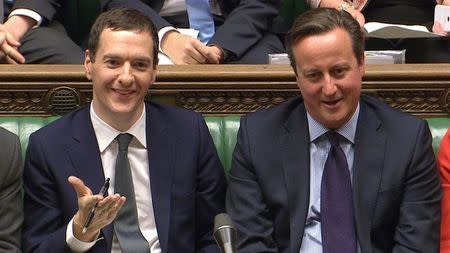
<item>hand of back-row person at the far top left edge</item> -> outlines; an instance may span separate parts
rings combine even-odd
[[[5,24],[0,25],[0,62],[25,63],[25,57],[18,51],[19,41],[35,24],[36,21],[29,17],[12,16]]]

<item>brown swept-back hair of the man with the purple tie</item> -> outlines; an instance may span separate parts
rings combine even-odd
[[[292,49],[294,44],[303,38],[324,34],[337,28],[342,28],[348,33],[352,40],[353,53],[358,63],[363,63],[364,33],[359,23],[346,11],[316,8],[300,15],[286,35],[286,51],[296,74],[297,68]]]

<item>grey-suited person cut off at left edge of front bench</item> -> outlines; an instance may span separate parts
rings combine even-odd
[[[20,253],[22,155],[17,135],[0,128],[0,251]]]

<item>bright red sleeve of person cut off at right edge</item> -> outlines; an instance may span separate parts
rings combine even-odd
[[[438,166],[442,184],[441,253],[450,252],[450,128],[441,141]]]

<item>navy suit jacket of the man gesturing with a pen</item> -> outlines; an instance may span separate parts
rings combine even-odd
[[[201,115],[146,105],[151,195],[162,252],[218,253],[214,216],[223,212],[225,176]],[[67,224],[78,210],[67,182],[79,177],[98,192],[105,178],[89,107],[30,136],[25,160],[25,252],[70,252]],[[101,230],[93,253],[111,251],[113,225]]]

